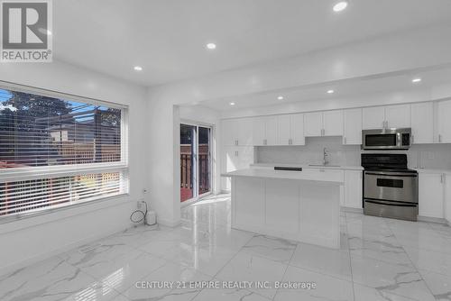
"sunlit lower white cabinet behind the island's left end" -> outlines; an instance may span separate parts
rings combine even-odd
[[[249,169],[253,164],[253,146],[226,146],[223,150],[221,172]],[[230,190],[230,178],[221,178],[222,190]]]

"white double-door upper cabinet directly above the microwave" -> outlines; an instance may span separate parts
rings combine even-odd
[[[365,107],[364,130],[410,127],[410,105]]]

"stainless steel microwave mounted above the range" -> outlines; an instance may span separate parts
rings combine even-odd
[[[410,128],[362,131],[362,150],[409,150]]]

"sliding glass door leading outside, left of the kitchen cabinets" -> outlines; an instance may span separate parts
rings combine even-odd
[[[211,128],[180,124],[180,202],[211,192]]]

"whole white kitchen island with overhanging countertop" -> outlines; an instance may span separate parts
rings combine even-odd
[[[340,247],[343,172],[240,169],[222,176],[232,178],[233,228]]]

